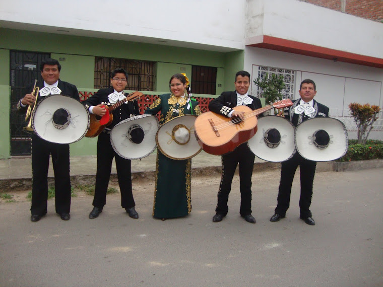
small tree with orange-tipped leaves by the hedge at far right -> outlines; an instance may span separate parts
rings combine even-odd
[[[370,104],[361,105],[358,103],[351,103],[348,107],[358,126],[358,143],[364,145],[373,128],[372,124],[378,119],[377,114],[380,111],[380,107],[375,105],[370,106]]]

